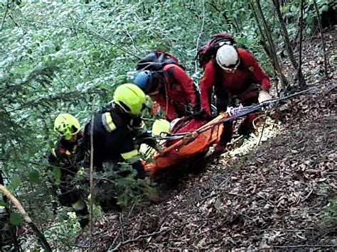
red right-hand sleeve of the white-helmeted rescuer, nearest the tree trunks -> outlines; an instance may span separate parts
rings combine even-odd
[[[260,82],[262,89],[265,91],[269,91],[270,89],[269,77],[262,70],[257,60],[255,60],[255,57],[253,57],[253,55],[251,55],[247,50],[238,49],[237,51],[240,55],[240,59],[242,60],[243,65],[247,67],[250,70],[250,72],[252,72],[255,79],[258,82]]]

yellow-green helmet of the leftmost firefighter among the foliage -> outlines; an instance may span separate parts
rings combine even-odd
[[[54,131],[63,136],[65,140],[70,140],[80,129],[80,123],[71,114],[59,114],[55,119]]]

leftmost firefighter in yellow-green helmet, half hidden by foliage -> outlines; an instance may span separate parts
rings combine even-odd
[[[81,190],[74,181],[85,157],[84,134],[80,123],[71,114],[59,114],[54,122],[54,131],[59,137],[48,153],[48,162],[54,169],[55,194],[63,207],[73,207],[80,226],[84,228],[89,223],[85,190]]]

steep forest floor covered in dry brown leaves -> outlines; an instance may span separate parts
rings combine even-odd
[[[305,46],[306,84],[318,89],[260,116],[256,136],[235,138],[161,200],[96,221],[93,250],[336,249],[335,38],[326,34],[328,77],[319,38]],[[77,238],[88,244],[87,233]]]

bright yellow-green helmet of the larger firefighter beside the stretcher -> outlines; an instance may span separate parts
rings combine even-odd
[[[114,91],[114,103],[129,114],[140,114],[145,102],[144,92],[135,84],[122,84]]]

